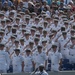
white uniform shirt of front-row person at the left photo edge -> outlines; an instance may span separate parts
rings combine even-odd
[[[0,70],[8,70],[9,65],[10,59],[8,53],[0,50]]]

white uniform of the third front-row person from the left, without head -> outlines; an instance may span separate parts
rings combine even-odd
[[[24,56],[24,72],[32,72],[33,71],[33,58],[31,55]]]

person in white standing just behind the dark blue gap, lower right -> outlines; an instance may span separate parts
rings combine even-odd
[[[61,37],[59,38],[59,44],[60,44],[60,52],[62,53],[62,57],[65,59],[69,56],[69,50],[65,47],[65,45],[68,43],[69,38],[67,37],[67,32],[63,31]]]

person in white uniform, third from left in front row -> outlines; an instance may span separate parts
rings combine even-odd
[[[35,69],[35,64],[31,55],[31,50],[27,48],[26,54],[24,55],[24,72],[32,72],[33,69]]]

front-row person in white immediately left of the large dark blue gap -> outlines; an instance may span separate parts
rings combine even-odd
[[[49,53],[49,59],[51,60],[51,71],[60,71],[62,64],[62,54],[58,52],[57,45],[52,45],[52,52]]]

